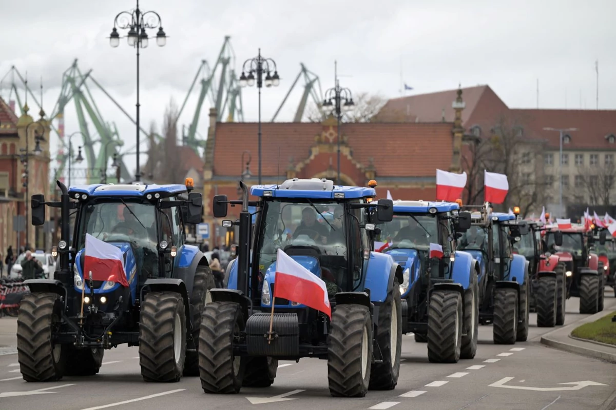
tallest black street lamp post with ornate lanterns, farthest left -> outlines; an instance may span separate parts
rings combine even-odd
[[[139,49],[145,49],[148,46],[148,34],[146,29],[158,28],[156,33],[156,44],[159,47],[163,47],[167,42],[167,35],[163,31],[161,18],[158,13],[153,11],[142,12],[139,10],[139,0],[137,0],[137,8],[132,12],[120,12],[113,20],[113,30],[109,36],[109,43],[111,47],[118,47],[120,45],[120,34],[118,28],[121,30],[128,29],[128,45],[137,49],[137,170],[135,171],[136,181],[140,181],[141,170],[139,168]],[[154,37],[152,37],[154,38]]]

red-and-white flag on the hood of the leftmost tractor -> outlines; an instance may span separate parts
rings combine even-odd
[[[92,272],[92,280],[111,280],[122,286],[129,286],[124,267],[124,255],[120,248],[96,239],[90,234],[86,234],[83,266],[85,280],[89,278],[89,272]]]

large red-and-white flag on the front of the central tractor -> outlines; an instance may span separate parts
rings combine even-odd
[[[325,282],[278,248],[274,298],[285,298],[319,310],[331,318]]]

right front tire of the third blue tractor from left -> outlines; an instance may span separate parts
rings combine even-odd
[[[462,295],[458,291],[436,290],[428,307],[428,360],[458,363],[462,347]]]

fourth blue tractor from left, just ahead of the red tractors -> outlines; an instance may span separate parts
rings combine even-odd
[[[513,213],[492,212],[487,202],[463,208],[476,210],[458,249],[479,264],[479,323],[492,323],[495,344],[524,342],[529,334],[529,261],[513,252],[513,244],[529,228],[518,224]]]

